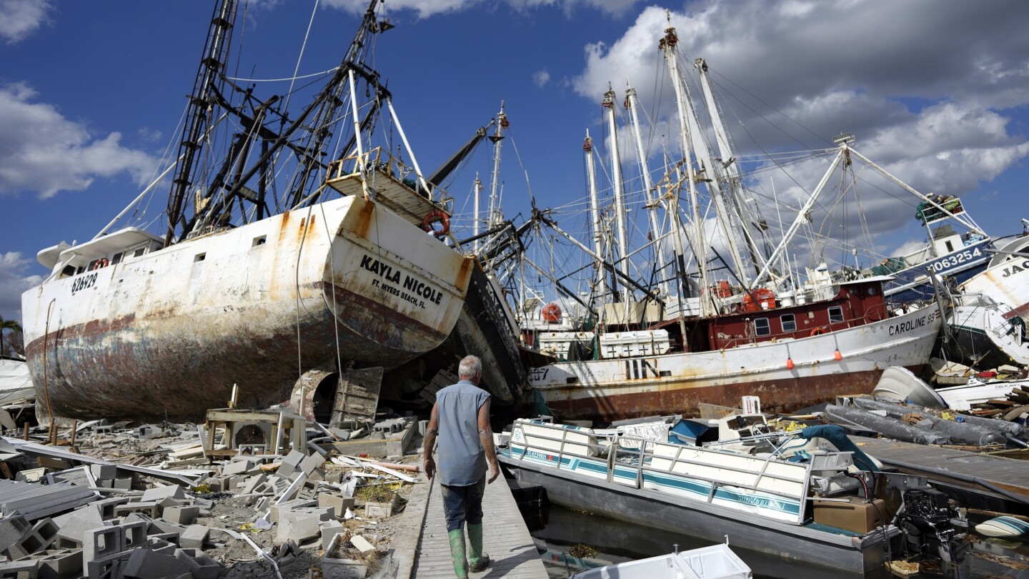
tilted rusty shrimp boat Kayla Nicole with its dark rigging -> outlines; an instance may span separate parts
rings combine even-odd
[[[388,372],[437,351],[462,319],[459,344],[504,359],[484,385],[518,398],[496,290],[460,251],[436,185],[453,167],[421,171],[364,62],[368,37],[392,28],[378,4],[299,112],[282,106],[295,95],[259,100],[227,78],[237,3],[215,9],[165,172],[167,230],[109,232],[158,177],[93,240],[39,252],[52,273],[23,295],[26,353],[56,414],[194,418],[234,384],[241,405],[274,404],[313,368]],[[372,142],[381,116],[402,144]],[[454,362],[429,360],[421,377]]]

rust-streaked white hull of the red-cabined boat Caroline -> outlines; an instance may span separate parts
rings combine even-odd
[[[561,362],[532,369],[529,380],[564,419],[696,415],[702,403],[737,407],[744,396],[760,397],[767,411],[790,411],[831,401],[836,395],[867,394],[890,366],[917,373],[929,361],[939,325],[938,308],[932,304],[796,340]]]

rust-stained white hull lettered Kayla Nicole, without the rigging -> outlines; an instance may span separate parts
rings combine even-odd
[[[431,350],[457,322],[470,267],[349,197],[92,273],[85,291],[71,276],[23,295],[40,400],[69,417],[197,418],[224,407],[234,383],[241,404],[274,403],[338,353],[393,368]]]

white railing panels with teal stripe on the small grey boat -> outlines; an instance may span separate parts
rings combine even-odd
[[[566,465],[566,458],[599,459],[606,454],[607,468],[603,478],[608,483],[626,484],[633,488],[667,490],[648,480],[652,477],[647,477],[646,473],[702,481],[710,485],[706,499],[708,503],[715,500],[719,488],[728,486],[803,504],[811,479],[810,464],[789,463],[778,459],[775,454],[753,456],[546,422],[516,422],[510,444],[512,450],[516,445],[523,448],[518,453],[512,451],[512,458],[525,459],[533,453],[542,454],[557,469],[578,471],[578,465],[571,461]],[[617,467],[634,472],[618,474]],[[596,471],[588,474],[600,475]]]

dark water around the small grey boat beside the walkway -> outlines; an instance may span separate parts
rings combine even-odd
[[[520,503],[520,507],[537,548],[543,551],[540,557],[547,569],[548,577],[555,579],[569,577],[594,567],[667,554],[675,548],[683,551],[712,544],[694,537],[573,511],[557,505],[536,506]],[[1029,541],[1029,538],[1022,539]],[[576,544],[589,545],[596,549],[597,553],[586,558],[573,557],[569,554],[569,549]],[[1018,541],[991,539],[970,545],[969,551],[959,565],[950,568],[944,566],[939,573],[923,573],[919,577],[1029,578],[1029,548]],[[733,547],[733,552],[750,567],[754,577],[758,579],[860,579],[862,577],[739,547]],[[1024,569],[1020,569],[1021,567]],[[885,569],[879,569],[863,577],[885,579],[892,575]]]

